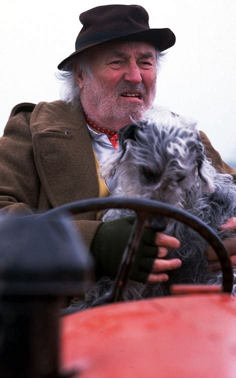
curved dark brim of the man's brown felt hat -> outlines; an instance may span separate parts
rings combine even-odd
[[[168,29],[147,29],[141,32],[135,33],[125,33],[117,36],[117,34],[106,33],[106,35],[98,35],[97,38],[93,36],[93,42],[87,40],[83,45],[79,46],[78,49],[66,59],[64,59],[58,66],[58,70],[70,71],[73,68],[73,63],[77,55],[92,46],[96,46],[109,41],[144,41],[152,43],[156,49],[160,52],[169,49],[175,44],[175,35]]]

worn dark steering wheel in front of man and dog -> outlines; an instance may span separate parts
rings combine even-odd
[[[124,251],[122,262],[117,273],[112,289],[105,294],[104,298],[100,298],[96,305],[113,302],[119,300],[121,292],[129,277],[130,267],[133,258],[138,250],[140,240],[142,238],[145,221],[151,216],[158,214],[173,218],[177,221],[184,223],[197,231],[213,248],[215,251],[222,270],[222,288],[224,292],[230,293],[233,286],[233,271],[229,258],[229,254],[218,237],[218,235],[204,222],[199,220],[192,214],[177,209],[166,203],[144,200],[137,198],[125,197],[108,197],[108,198],[93,198],[89,200],[76,201],[60,207],[54,208],[47,212],[47,219],[55,219],[58,213],[69,212],[71,215],[78,213],[99,211],[102,209],[130,209],[136,212],[137,218],[128,241],[127,247]],[[45,215],[45,214],[44,214]],[[42,215],[41,217],[44,217]]]

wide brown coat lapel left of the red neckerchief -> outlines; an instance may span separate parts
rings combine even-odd
[[[39,103],[30,124],[38,173],[52,207],[98,197],[97,171],[81,108]]]

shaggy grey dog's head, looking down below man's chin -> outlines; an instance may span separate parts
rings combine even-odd
[[[177,116],[170,117],[121,129],[119,149],[106,175],[116,175],[123,195],[183,208],[187,192],[213,192],[213,176],[198,131],[192,124],[179,124]]]

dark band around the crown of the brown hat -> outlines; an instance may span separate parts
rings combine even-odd
[[[87,46],[91,43],[98,43],[98,42],[105,42],[105,41],[108,41],[108,40],[111,40],[111,39],[114,39],[114,38],[119,38],[119,37],[123,37],[123,36],[126,36],[126,35],[130,35],[130,34],[135,34],[135,33],[140,33],[140,32],[145,32],[145,31],[148,31],[150,29],[143,29],[143,30],[129,30],[129,31],[120,31],[120,32],[97,32],[97,33],[94,33],[92,35],[89,35],[89,36],[86,36],[86,37],[82,37],[82,38],[79,38],[79,40],[76,40],[76,43],[75,43],[75,50],[78,50],[80,48],[82,48],[83,46]]]

